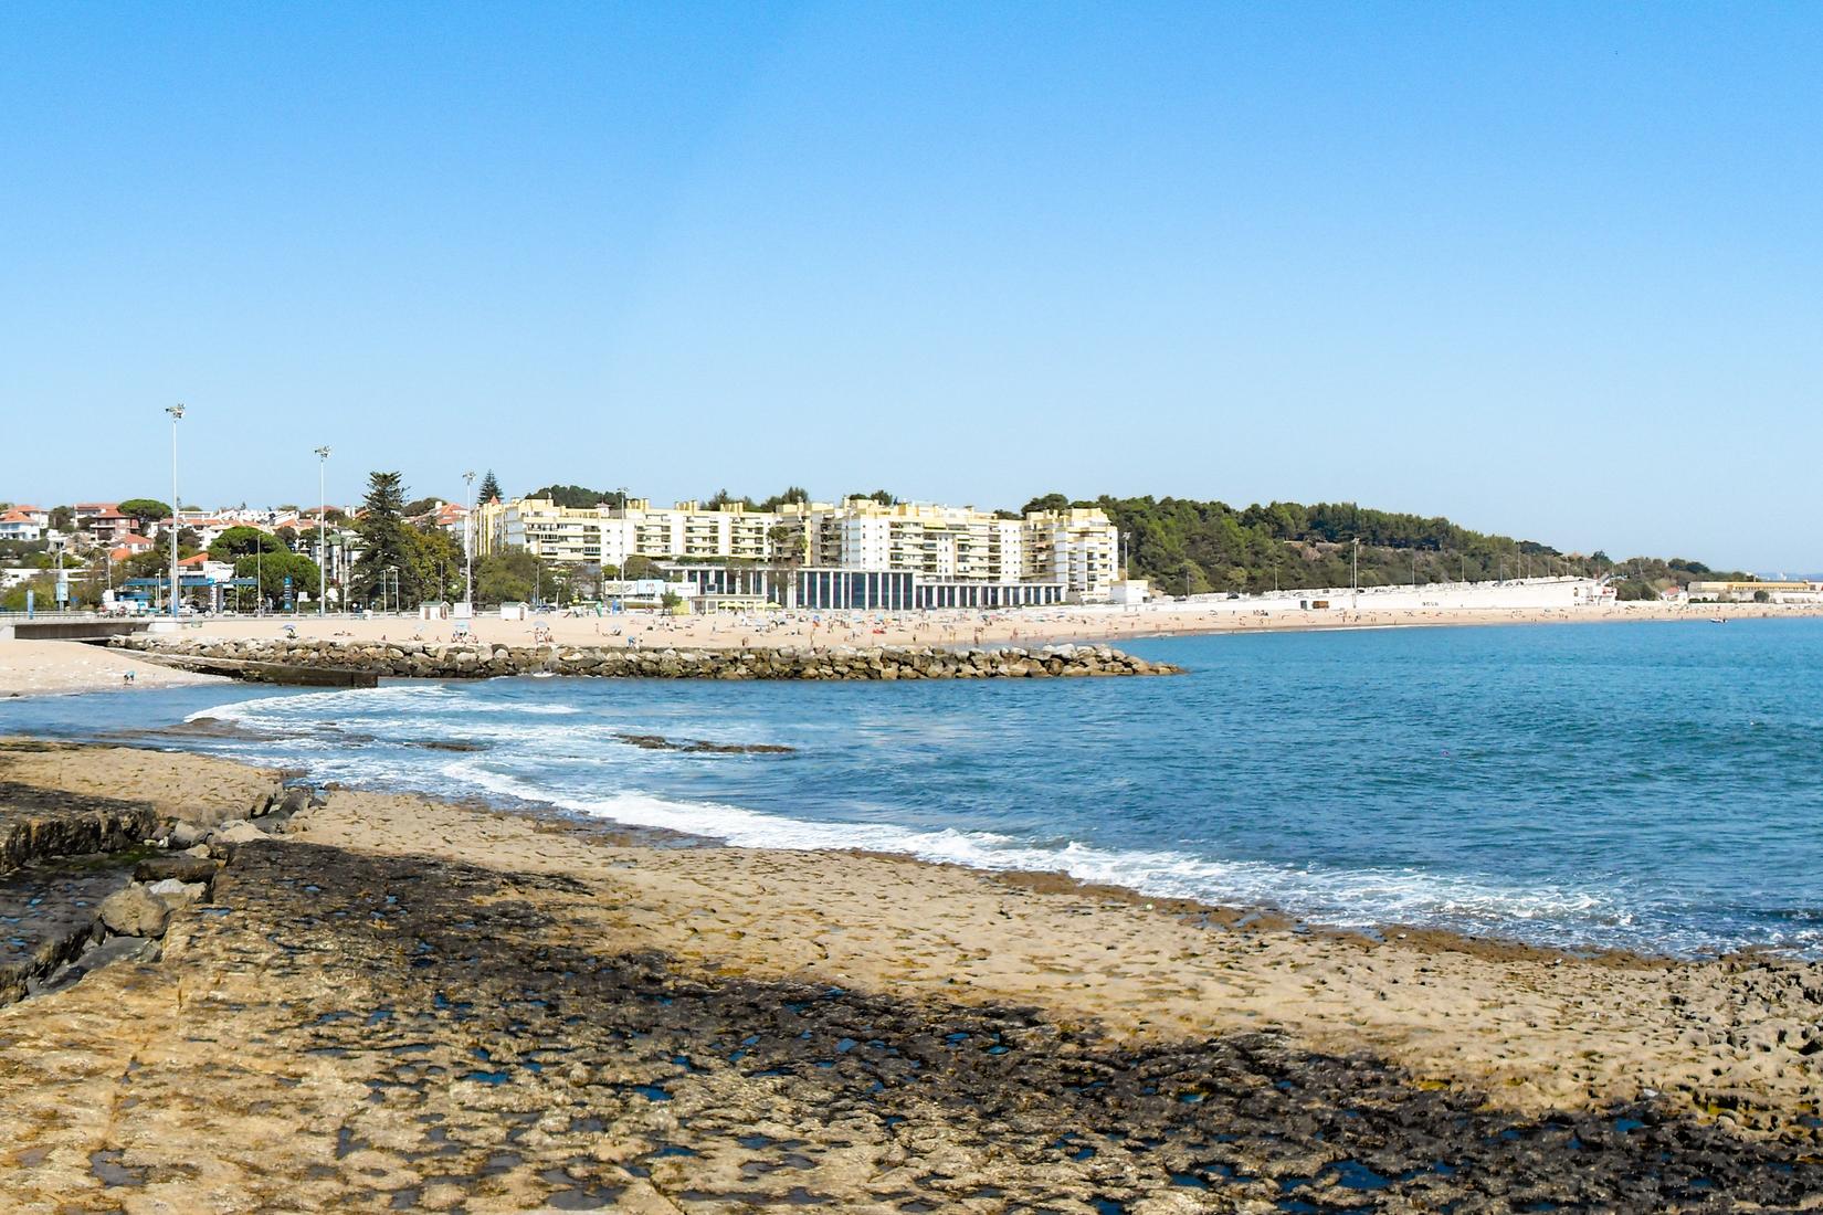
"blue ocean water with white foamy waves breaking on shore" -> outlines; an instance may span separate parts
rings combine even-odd
[[[213,718],[233,730],[135,741],[736,845],[1065,871],[1323,925],[1823,956],[1823,619],[1127,648],[1190,674],[211,685],[0,701],[0,734]]]

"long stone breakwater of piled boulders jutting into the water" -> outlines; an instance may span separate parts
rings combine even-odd
[[[419,679],[529,674],[649,679],[1039,679],[1181,674],[1181,669],[1170,663],[1148,663],[1105,645],[1046,645],[1032,650],[842,645],[706,650],[301,638],[268,641],[115,638],[109,645],[153,658],[224,663],[222,670],[244,678],[259,678],[261,665]],[[232,667],[226,667],[228,663]]]

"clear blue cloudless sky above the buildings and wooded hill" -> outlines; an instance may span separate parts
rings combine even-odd
[[[1823,568],[1823,5],[9,4],[0,499],[804,485]]]

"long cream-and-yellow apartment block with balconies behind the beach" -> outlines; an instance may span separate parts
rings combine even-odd
[[[623,567],[654,561],[749,561],[826,570],[908,572],[944,583],[1059,583],[1072,599],[1105,599],[1119,576],[1119,536],[1096,508],[1008,517],[973,506],[793,503],[777,512],[740,503],[654,508],[558,506],[525,497],[479,512],[481,556],[525,548],[547,561]]]

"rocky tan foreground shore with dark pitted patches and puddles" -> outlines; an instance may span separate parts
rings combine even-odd
[[[166,816],[257,809],[277,776],[0,747],[15,796]],[[0,1007],[0,1204],[1823,1202],[1816,964],[1369,940],[324,792],[204,845],[226,867],[162,960]]]

